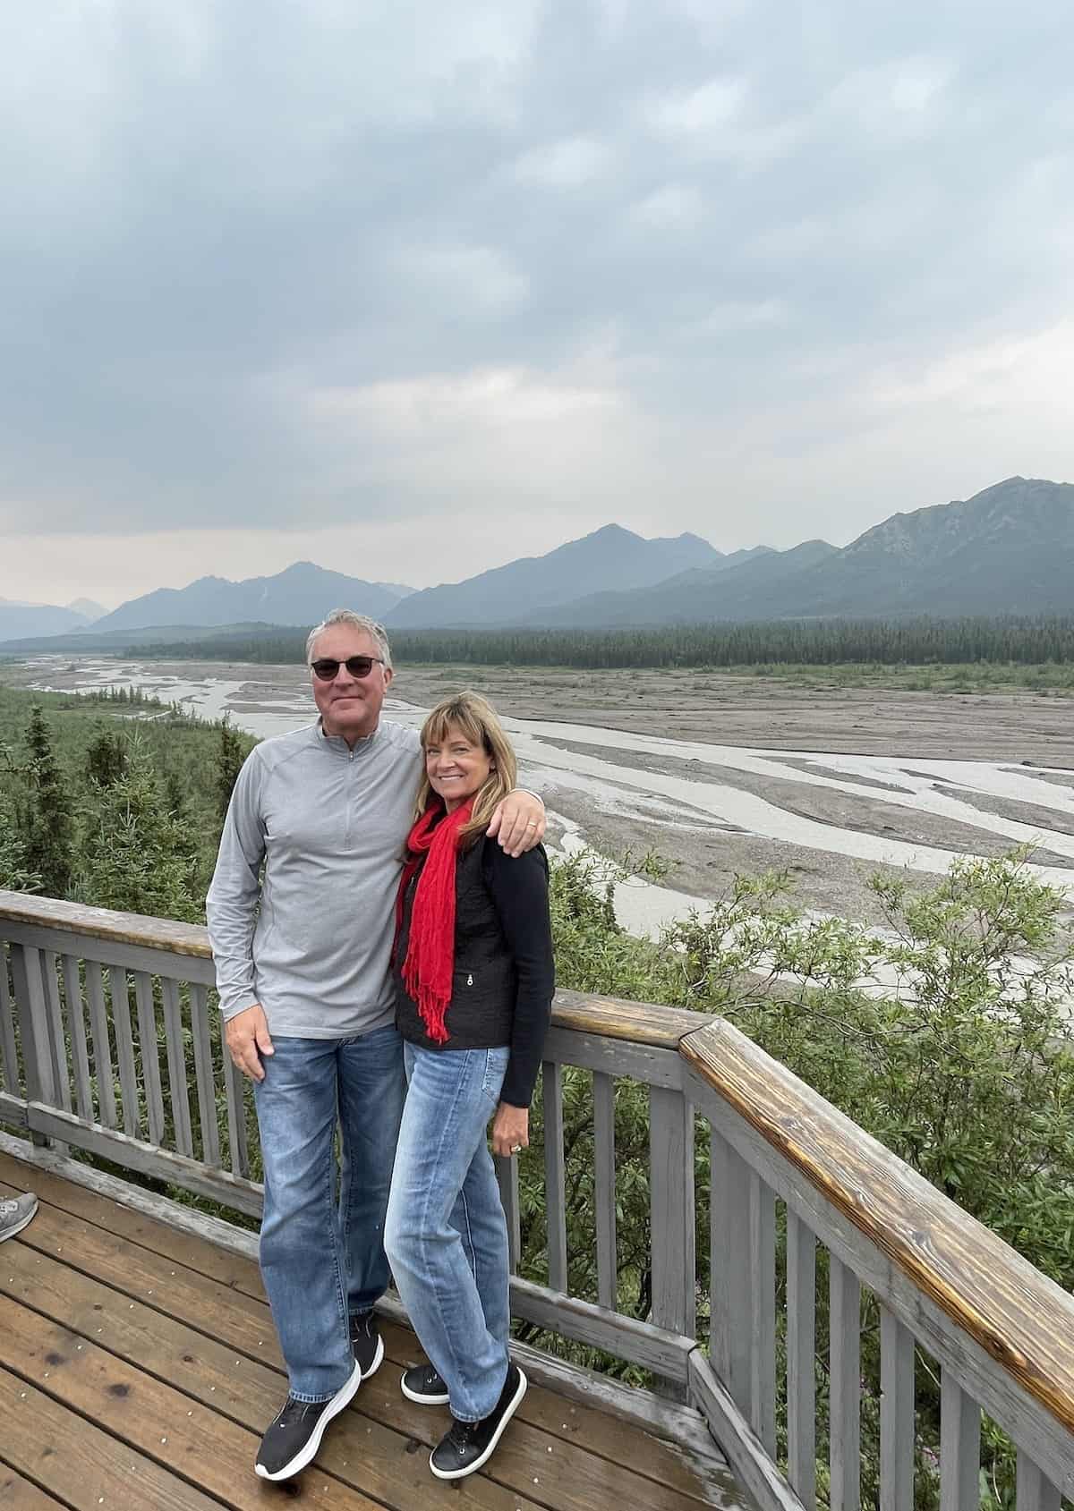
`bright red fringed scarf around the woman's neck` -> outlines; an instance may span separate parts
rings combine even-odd
[[[402,985],[417,1003],[425,1032],[434,1044],[448,1043],[443,1018],[451,1002],[455,969],[455,858],[458,831],[472,808],[470,799],[446,816],[439,802],[422,813],[407,836],[410,858],[399,882],[398,919],[402,920],[402,899],[410,878],[419,866],[421,855],[428,851],[410,911]]]

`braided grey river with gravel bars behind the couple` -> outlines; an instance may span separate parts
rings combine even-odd
[[[268,737],[316,710],[304,671],[47,657],[20,681],[56,691],[138,688],[192,713]],[[596,674],[594,674],[596,675]],[[386,716],[424,707],[389,698]],[[1074,771],[891,754],[826,754],[670,739],[563,719],[504,718],[522,780],[542,792],[554,843],[652,848],[678,863],[675,887],[620,884],[617,911],[638,932],[711,901],[734,870],[788,866],[812,911],[858,913],[865,872],[924,882],[958,855],[1035,848],[1033,870],[1074,898]],[[797,878],[796,878],[797,879]],[[873,920],[874,922],[874,920]]]

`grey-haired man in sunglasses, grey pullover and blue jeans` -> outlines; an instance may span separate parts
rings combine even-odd
[[[392,683],[381,626],[336,609],[306,653],[321,718],[245,762],[206,899],[227,1049],[254,1082],[260,1265],[289,1377],[257,1452],[265,1479],[313,1460],[384,1357],[372,1307],[389,1280],[405,1092],[389,961],[421,745],[380,718]],[[511,793],[489,833],[510,854],[529,849],[545,833],[540,798]]]

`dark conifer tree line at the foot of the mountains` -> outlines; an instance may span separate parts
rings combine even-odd
[[[307,629],[221,633],[154,645],[153,656],[293,665]],[[145,654],[129,647],[124,656]],[[622,630],[446,629],[392,633],[396,662],[475,666],[876,666],[1063,665],[1074,662],[1074,616],[776,620]]]

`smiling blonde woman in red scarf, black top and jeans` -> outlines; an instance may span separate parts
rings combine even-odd
[[[461,1479],[493,1454],[526,1392],[507,1352],[507,1224],[486,1130],[492,1118],[496,1154],[529,1142],[552,934],[543,848],[513,860],[486,842],[516,777],[489,703],[475,692],[440,703],[422,749],[393,956],[408,1091],[384,1247],[431,1360],[404,1373],[402,1393],[451,1404],[430,1467]]]

